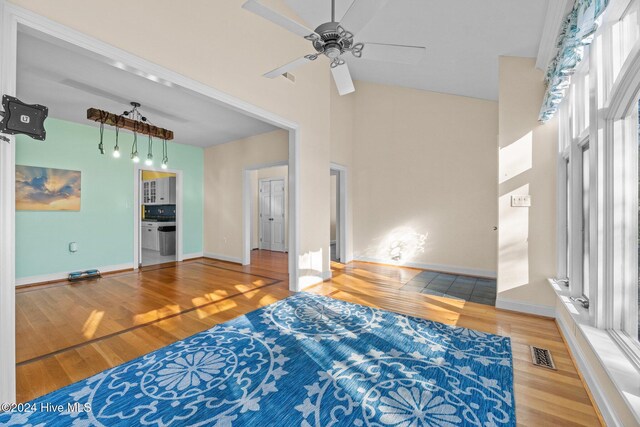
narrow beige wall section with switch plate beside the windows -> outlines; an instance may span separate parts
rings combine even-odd
[[[546,279],[556,273],[558,128],[555,119],[538,122],[543,95],[535,59],[500,58],[497,305],[504,308],[554,305]],[[511,195],[527,194],[530,208],[511,207]]]

